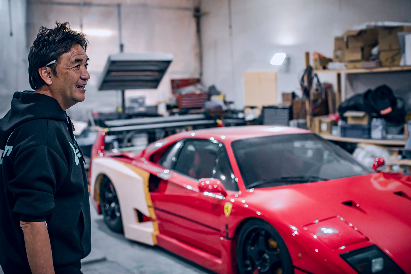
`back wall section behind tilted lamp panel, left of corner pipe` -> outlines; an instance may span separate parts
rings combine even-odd
[[[2,0],[3,1],[3,0]],[[67,1],[69,2],[69,1]],[[75,1],[72,1],[75,2]],[[77,1],[79,2],[79,1]],[[118,91],[97,91],[97,80],[109,54],[119,52],[117,7],[112,1],[91,1],[94,5],[62,5],[40,1],[28,2],[28,42],[34,41],[40,26],[53,27],[56,21],[68,21],[72,28],[109,30],[110,36],[88,36],[90,46],[90,81],[86,99],[68,110],[73,119],[85,119],[85,112],[115,111],[121,106]],[[149,105],[157,104],[162,93],[171,98],[170,79],[198,77],[199,61],[196,28],[193,17],[194,0],[134,0],[122,1],[122,41],[124,52],[165,52],[174,61],[157,90],[127,90],[127,95],[146,95]],[[101,5],[104,3],[103,5]]]

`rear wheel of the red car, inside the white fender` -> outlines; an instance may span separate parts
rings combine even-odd
[[[100,188],[100,208],[104,223],[114,232],[123,232],[120,204],[113,183],[109,178],[104,178]]]

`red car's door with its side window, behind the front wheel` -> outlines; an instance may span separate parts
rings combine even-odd
[[[175,144],[159,161],[166,168],[165,176],[158,174],[159,191],[150,192],[160,233],[216,256],[221,255],[220,237],[225,233],[220,222],[224,197],[205,195],[198,185],[199,179],[216,175],[234,181],[232,172],[219,167],[222,147],[217,141],[194,138]]]

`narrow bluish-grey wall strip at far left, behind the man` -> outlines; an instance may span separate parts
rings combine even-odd
[[[13,0],[10,7],[11,28],[8,0],[0,0],[0,117],[9,110],[15,91],[30,89],[25,36],[26,1]]]

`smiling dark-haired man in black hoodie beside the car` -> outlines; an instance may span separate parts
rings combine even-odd
[[[69,24],[40,28],[30,53],[35,90],[0,119],[0,264],[5,274],[79,274],[90,253],[83,156],[65,110],[85,99],[88,42]]]

